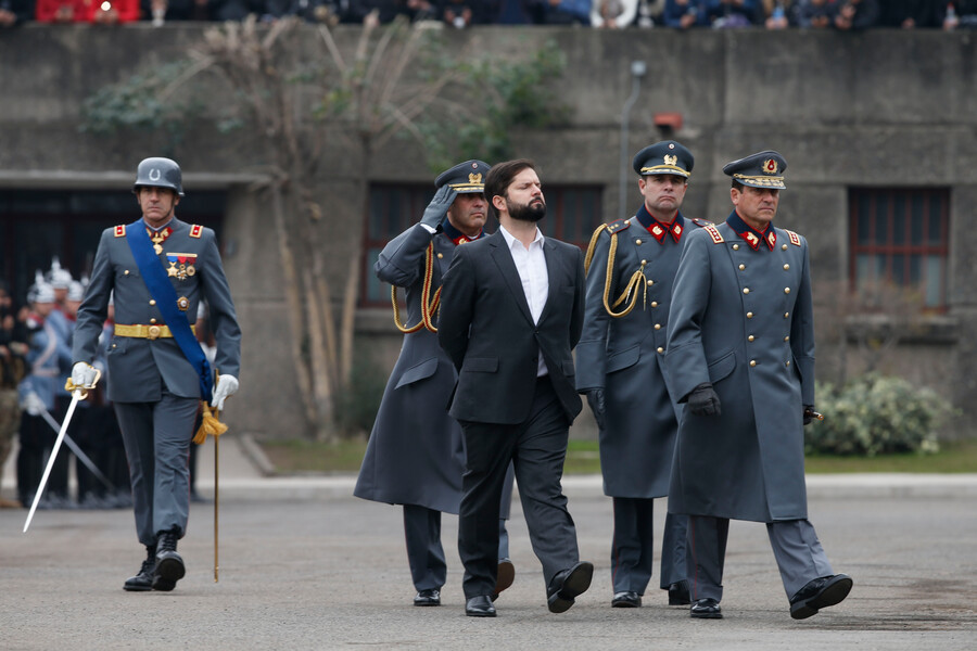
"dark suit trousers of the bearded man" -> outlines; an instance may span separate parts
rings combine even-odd
[[[467,467],[461,480],[458,553],[465,597],[492,595],[498,570],[498,510],[509,461],[546,585],[580,560],[576,528],[560,478],[570,425],[548,376],[536,381],[529,418],[515,425],[462,421]]]

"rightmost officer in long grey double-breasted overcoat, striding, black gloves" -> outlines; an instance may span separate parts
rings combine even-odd
[[[766,523],[791,617],[852,586],[808,521],[814,321],[808,242],[772,224],[786,168],[774,151],[727,164],[735,209],[690,234],[675,278],[665,372],[684,412],[669,511],[688,515],[693,617],[722,617],[731,519]]]

